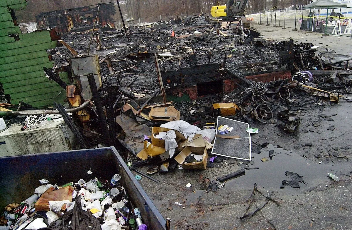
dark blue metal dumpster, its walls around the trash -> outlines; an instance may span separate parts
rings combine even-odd
[[[89,169],[92,175],[88,175]],[[43,178],[50,184],[61,185],[94,177],[110,179],[119,173],[130,200],[141,212],[143,223],[149,230],[166,230],[165,219],[114,147],[0,157],[0,170],[1,210],[33,195]]]

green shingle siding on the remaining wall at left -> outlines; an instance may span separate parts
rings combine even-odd
[[[26,0],[0,0],[0,83],[12,104],[24,101],[37,108],[51,107],[54,101],[63,103],[66,98],[66,91],[43,70],[53,67],[46,50],[55,48],[57,41],[51,40],[50,31],[22,34],[14,25],[11,9],[23,9],[26,4]],[[18,34],[20,40],[10,34]],[[69,83],[68,73],[59,76]]]

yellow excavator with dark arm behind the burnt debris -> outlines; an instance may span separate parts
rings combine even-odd
[[[228,0],[226,5],[216,2],[216,6],[211,9],[212,17],[223,19],[227,19],[228,16],[243,17],[247,3],[248,0]]]

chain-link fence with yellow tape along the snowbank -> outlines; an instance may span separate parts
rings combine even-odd
[[[335,9],[267,9],[258,13],[246,11],[247,20],[255,24],[301,29],[352,39],[352,7]],[[327,23],[326,23],[327,22]]]

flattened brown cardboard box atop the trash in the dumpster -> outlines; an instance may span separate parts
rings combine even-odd
[[[50,187],[43,193],[42,196],[40,196],[36,204],[34,204],[36,211],[50,211],[49,201],[72,201],[72,186],[66,186],[61,189],[53,190],[54,188]]]

